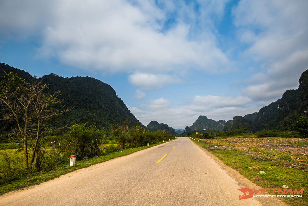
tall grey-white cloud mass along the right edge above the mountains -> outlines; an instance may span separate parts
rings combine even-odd
[[[260,65],[242,90],[257,100],[276,101],[284,91],[296,89],[308,69],[308,1],[241,0],[233,10],[239,39],[249,43],[246,58]]]

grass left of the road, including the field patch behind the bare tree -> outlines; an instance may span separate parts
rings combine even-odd
[[[168,142],[168,141],[165,141]],[[98,164],[101,162],[105,162],[114,158],[118,158],[118,157],[122,157],[137,151],[140,151],[142,149],[147,149],[156,145],[160,145],[163,142],[159,142],[156,144],[152,144],[144,147],[137,147],[137,148],[130,148],[130,149],[123,149],[122,151],[119,152],[114,152],[114,153],[110,153],[107,155],[102,155],[99,157],[95,157],[95,158],[88,158],[88,159],[84,159],[84,160],[80,160],[80,161],[76,161],[76,165],[75,166],[69,166],[70,162],[69,162],[69,158],[68,158],[68,162],[66,166],[59,166],[57,168],[55,168],[52,171],[48,171],[48,172],[37,172],[34,175],[28,176],[26,172],[22,172],[23,170],[21,170],[20,172],[20,178],[19,179],[15,179],[13,181],[10,181],[8,183],[4,183],[4,184],[0,184],[0,195],[9,192],[9,191],[13,191],[13,190],[18,190],[24,187],[29,187],[31,185],[37,185],[39,183],[43,183],[46,181],[49,181],[51,179],[55,179],[63,174],[67,174],[69,172],[72,172],[74,170],[78,170],[81,168],[85,168],[94,164]],[[16,168],[22,168],[23,167],[23,155],[22,153],[15,153],[16,149],[2,149],[0,150],[0,168],[2,168],[2,172],[5,172],[5,165],[7,165],[6,162],[6,154],[9,155],[11,158],[13,159],[14,162],[16,162],[16,164],[14,162],[10,162],[10,164]],[[14,158],[12,158],[14,157]],[[3,175],[3,173],[0,173],[0,175]]]

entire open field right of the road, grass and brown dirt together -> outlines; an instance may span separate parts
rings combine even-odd
[[[308,205],[308,139],[237,136],[193,141],[260,188],[304,188],[302,198],[282,200],[291,205]],[[266,174],[261,175],[261,170]]]

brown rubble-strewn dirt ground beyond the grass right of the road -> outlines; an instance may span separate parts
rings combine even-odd
[[[308,170],[308,139],[295,138],[233,138],[206,139],[208,150],[236,149],[247,155],[258,154],[258,161],[280,160],[280,164]],[[261,156],[260,156],[261,155]]]

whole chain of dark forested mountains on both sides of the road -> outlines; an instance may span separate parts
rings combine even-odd
[[[36,79],[28,72],[7,64],[0,63],[0,80],[5,73],[14,72],[23,79]],[[95,123],[98,127],[109,127],[111,124],[121,124],[125,120],[131,121],[131,126],[145,127],[129,111],[125,103],[120,99],[115,90],[95,78],[71,77],[64,78],[57,74],[48,74],[37,80],[47,83],[49,90],[54,93],[61,91],[63,95],[62,105],[73,109],[59,116],[56,124],[81,124]],[[247,114],[244,117],[235,116],[233,120],[211,120],[206,116],[199,118],[191,126],[185,129],[173,129],[167,124],[150,122],[147,127],[149,131],[168,130],[169,134],[178,135],[189,131],[227,131],[231,129],[247,128],[255,132],[263,129],[292,130],[294,116],[308,114],[308,69],[299,78],[299,87],[296,90],[287,90],[281,99],[260,109],[259,112]],[[0,121],[0,131],[9,126]],[[175,131],[176,130],[176,131]]]

